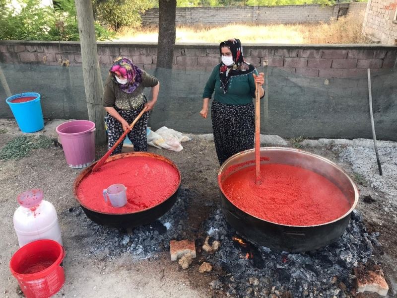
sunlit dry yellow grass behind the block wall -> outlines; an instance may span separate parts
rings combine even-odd
[[[361,33],[363,16],[348,15],[319,24],[230,24],[221,26],[177,26],[176,42],[219,43],[237,37],[243,43],[348,44],[369,43]],[[118,41],[157,42],[157,27],[124,28]]]

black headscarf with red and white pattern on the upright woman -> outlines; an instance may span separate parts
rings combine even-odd
[[[253,70],[254,67],[249,63],[244,61],[243,57],[243,46],[241,45],[240,39],[234,38],[222,41],[219,44],[219,53],[222,54],[222,48],[229,48],[230,52],[232,52],[233,64],[227,66],[221,63],[219,69],[219,77],[220,77],[220,87],[223,89],[223,92],[227,92],[228,83],[230,77],[233,75],[247,74],[249,71]]]

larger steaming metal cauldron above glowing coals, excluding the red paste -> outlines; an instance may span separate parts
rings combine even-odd
[[[255,150],[250,149],[231,156],[223,163],[218,173],[222,211],[227,222],[248,240],[276,250],[309,251],[337,240],[346,229],[350,214],[358,202],[358,191],[353,180],[327,158],[299,149],[261,148],[261,157],[261,163],[292,165],[322,175],[340,189],[347,198],[350,209],[331,222],[300,226],[272,223],[239,209],[226,197],[222,183],[241,167],[254,164]]]

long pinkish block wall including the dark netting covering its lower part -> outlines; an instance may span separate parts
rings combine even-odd
[[[244,51],[247,61],[256,66],[265,59],[270,65],[268,118],[261,116],[262,133],[372,138],[366,77],[366,68],[371,67],[377,137],[397,140],[397,77],[393,69],[397,47],[245,45]],[[132,57],[139,67],[154,74],[155,44],[99,43],[98,54],[103,80],[120,54]],[[167,126],[182,132],[210,133],[211,121],[202,119],[199,110],[203,87],[218,62],[217,45],[176,45],[173,70],[156,73],[161,88],[150,126],[154,130]],[[45,118],[88,119],[78,43],[0,41],[0,65],[12,93],[41,94]],[[149,91],[147,88],[148,98]],[[13,118],[5,97],[0,87],[0,118]]]

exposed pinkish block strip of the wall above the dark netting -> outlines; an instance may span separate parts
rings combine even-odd
[[[143,70],[156,68],[155,43],[98,42],[98,59],[109,68],[113,60],[128,56]],[[396,67],[397,47],[387,45],[244,45],[247,62],[310,77],[351,77]],[[67,61],[67,63],[66,63]],[[0,41],[0,62],[19,64],[81,64],[78,42]],[[220,62],[217,45],[183,45],[174,49],[174,70],[210,72]]]

